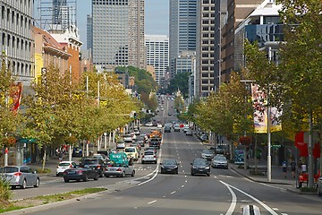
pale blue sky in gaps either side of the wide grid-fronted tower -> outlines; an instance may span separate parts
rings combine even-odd
[[[145,0],[145,34],[169,35],[169,1]],[[86,48],[86,16],[91,13],[91,0],[77,0],[77,25],[82,49]]]

